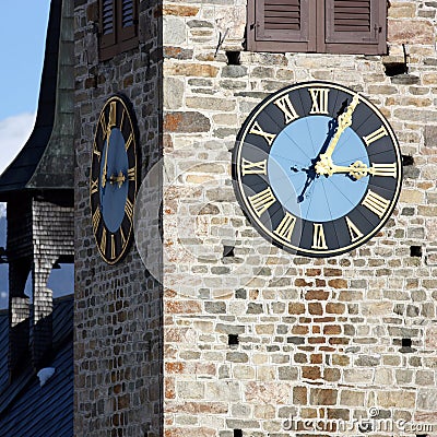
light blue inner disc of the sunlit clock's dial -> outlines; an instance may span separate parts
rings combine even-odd
[[[312,160],[329,137],[331,117],[305,117],[286,126],[275,138],[268,157],[270,186],[283,206],[300,218],[328,222],[350,213],[367,190],[369,176],[359,181],[345,174],[317,177]],[[291,143],[298,146],[290,154]],[[338,165],[361,161],[369,166],[361,138],[347,128],[332,155]],[[288,172],[284,173],[284,169]],[[307,182],[308,181],[308,182]],[[308,186],[307,186],[308,184]],[[297,190],[292,194],[294,190]],[[340,197],[340,198],[339,198]]]

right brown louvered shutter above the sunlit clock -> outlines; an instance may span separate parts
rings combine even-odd
[[[385,0],[326,0],[324,50],[345,54],[385,54]]]

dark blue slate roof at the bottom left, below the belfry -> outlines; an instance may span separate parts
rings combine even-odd
[[[73,296],[54,300],[55,375],[44,387],[31,369],[8,383],[8,311],[0,311],[1,437],[73,436]]]

